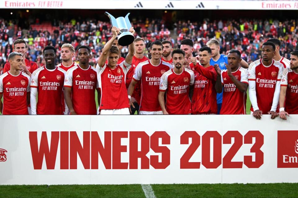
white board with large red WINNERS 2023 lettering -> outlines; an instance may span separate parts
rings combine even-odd
[[[297,120],[1,116],[0,184],[296,183]]]

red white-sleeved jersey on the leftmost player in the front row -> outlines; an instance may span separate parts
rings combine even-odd
[[[28,115],[27,92],[30,77],[20,72],[13,76],[6,72],[0,76],[0,93],[3,94],[3,115]]]

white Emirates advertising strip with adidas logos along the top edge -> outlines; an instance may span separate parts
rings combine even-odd
[[[298,2],[255,0],[2,0],[0,8],[21,9],[160,9],[160,10],[297,10]]]

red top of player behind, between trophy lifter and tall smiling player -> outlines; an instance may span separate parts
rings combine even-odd
[[[136,70],[136,67],[138,66],[138,64],[144,62],[148,60],[148,58],[146,56],[143,56],[142,59],[138,59],[135,56],[133,56],[133,60],[131,63],[131,68],[129,69],[128,73],[126,74],[126,80],[125,80],[125,84],[126,84],[126,88],[128,89],[129,84],[131,82],[131,80],[133,79],[133,73]],[[133,90],[133,95],[132,97],[134,97],[137,101],[138,104],[140,104],[140,99],[141,99],[141,81],[138,81],[138,83],[136,84],[136,86],[134,86],[134,90]]]

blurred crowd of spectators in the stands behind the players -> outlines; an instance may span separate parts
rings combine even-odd
[[[135,37],[143,37],[146,44],[155,40],[169,40],[176,48],[180,46],[181,40],[191,38],[194,41],[194,56],[198,54],[201,46],[212,38],[219,41],[221,53],[237,49],[249,64],[260,59],[262,43],[268,38],[276,37],[281,40],[281,55],[287,59],[291,51],[298,49],[298,26],[295,20],[179,20],[173,23],[173,30],[169,30],[163,20],[147,18],[144,21],[131,20],[131,22],[136,30]],[[111,37],[110,29],[109,22],[75,19],[68,22],[59,21],[57,26],[51,29],[36,29],[32,26],[29,29],[21,29],[14,24],[13,20],[0,19],[0,74],[8,54],[12,51],[12,43],[18,38],[23,38],[28,43],[26,57],[37,62],[39,67],[45,64],[43,48],[47,45],[56,47],[56,64],[61,62],[60,48],[64,43],[71,43],[75,49],[80,45],[90,46],[93,54],[90,64],[94,65],[103,46]],[[123,47],[121,55],[125,57],[127,53],[128,48]]]

